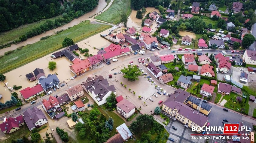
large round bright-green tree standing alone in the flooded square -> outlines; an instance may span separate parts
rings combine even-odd
[[[128,68],[124,67],[121,71],[124,73],[123,77],[128,79],[128,81],[139,80],[138,77],[141,76],[141,71],[136,65],[128,65]]]

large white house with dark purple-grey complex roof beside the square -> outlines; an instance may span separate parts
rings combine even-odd
[[[114,85],[109,85],[108,80],[104,79],[103,76],[88,77],[81,85],[98,105],[105,104],[107,102],[106,98],[112,92],[116,93]]]

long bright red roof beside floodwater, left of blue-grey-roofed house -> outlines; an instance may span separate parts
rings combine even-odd
[[[41,86],[41,84],[37,84],[34,87],[27,87],[23,90],[20,90],[20,93],[22,94],[23,98],[27,99],[33,95],[35,95],[36,93],[39,93],[40,91],[43,91],[43,87]]]

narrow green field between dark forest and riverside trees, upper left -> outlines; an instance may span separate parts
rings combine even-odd
[[[59,18],[60,16],[56,16],[50,19],[43,19],[37,22],[33,22],[30,24],[26,24],[23,26],[20,26],[18,28],[15,28],[13,30],[7,31],[7,32],[2,32],[0,33],[0,45],[8,43],[10,41],[13,41],[16,38],[19,38],[21,35],[25,34],[27,31],[39,27],[41,24],[43,24],[47,20],[54,20]]]

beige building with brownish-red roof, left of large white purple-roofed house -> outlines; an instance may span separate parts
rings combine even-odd
[[[84,96],[84,89],[82,85],[78,84],[66,90],[66,93],[68,94],[70,100],[73,101],[81,96]]]

